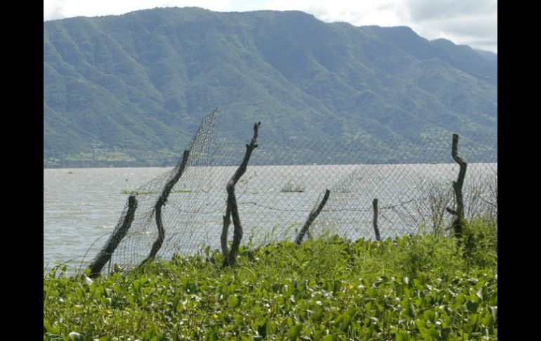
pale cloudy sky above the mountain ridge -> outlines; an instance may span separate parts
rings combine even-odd
[[[409,26],[426,39],[497,53],[497,0],[44,0],[44,20],[187,6],[219,12],[296,10],[324,22]]]

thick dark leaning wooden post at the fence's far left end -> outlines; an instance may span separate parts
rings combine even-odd
[[[132,194],[128,198],[128,210],[126,211],[126,216],[124,217],[124,221],[122,221],[122,225],[119,227],[116,233],[113,234],[109,240],[107,240],[105,247],[103,247],[100,253],[98,253],[98,256],[96,256],[96,259],[94,259],[94,262],[91,264],[91,266],[89,266],[90,278],[100,276],[101,269],[103,269],[103,266],[110,261],[112,252],[115,252],[122,238],[124,238],[126,233],[128,233],[131,223],[133,222],[133,217],[135,217],[136,209],[137,198],[136,195]]]

